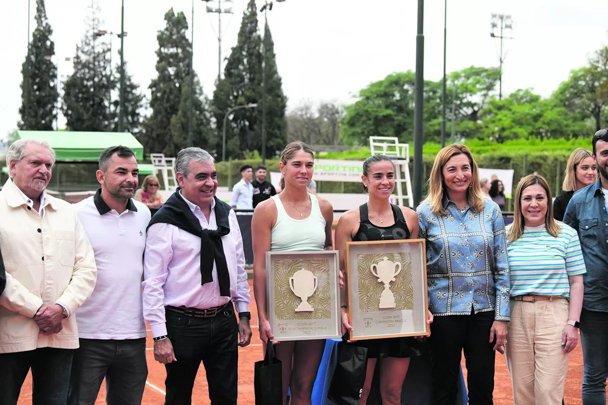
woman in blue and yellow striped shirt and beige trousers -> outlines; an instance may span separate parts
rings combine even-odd
[[[538,175],[517,185],[507,227],[511,324],[506,364],[517,405],[562,403],[569,353],[578,342],[582,274],[578,234],[553,219],[551,190]]]

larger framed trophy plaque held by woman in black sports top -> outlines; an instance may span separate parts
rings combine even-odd
[[[424,239],[347,242],[350,340],[429,333]]]

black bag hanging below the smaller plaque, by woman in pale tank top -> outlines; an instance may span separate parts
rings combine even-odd
[[[283,405],[282,368],[274,344],[269,341],[264,360],[254,365],[255,405]]]

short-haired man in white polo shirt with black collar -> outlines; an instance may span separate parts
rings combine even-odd
[[[80,349],[68,404],[94,405],[105,378],[108,404],[140,405],[148,376],[140,283],[150,209],[133,199],[139,175],[133,150],[104,150],[96,174],[102,187],[75,204],[98,278],[91,298],[78,309]]]

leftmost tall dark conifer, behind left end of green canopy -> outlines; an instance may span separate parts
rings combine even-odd
[[[57,118],[57,66],[51,61],[51,56],[55,55],[55,42],[50,39],[52,34],[44,0],[37,0],[36,28],[28,44],[29,70],[26,69],[27,61],[21,69],[23,81],[19,129],[49,131]]]

